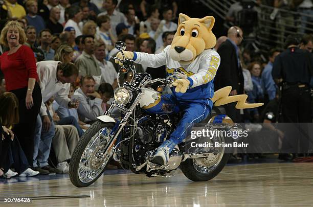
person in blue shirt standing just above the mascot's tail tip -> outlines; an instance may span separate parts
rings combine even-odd
[[[275,58],[280,54],[278,49],[272,49],[269,53],[269,63],[264,67],[262,72],[262,85],[264,87],[264,103],[275,99],[276,97],[276,84],[272,77],[273,63]]]

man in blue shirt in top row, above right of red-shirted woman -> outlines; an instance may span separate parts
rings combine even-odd
[[[46,28],[46,22],[44,22],[41,16],[37,15],[38,4],[35,0],[26,2],[26,10],[28,12],[26,16],[28,25],[34,26],[37,33]]]

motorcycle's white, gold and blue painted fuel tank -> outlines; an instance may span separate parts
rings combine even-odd
[[[140,99],[140,107],[147,113],[165,114],[178,112],[175,102],[162,95],[158,91],[150,88],[144,88],[144,95]]]

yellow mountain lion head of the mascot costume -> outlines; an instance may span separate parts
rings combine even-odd
[[[180,14],[169,51],[170,57],[182,65],[188,65],[204,50],[213,48],[216,43],[212,33],[214,21],[213,16],[198,19]]]

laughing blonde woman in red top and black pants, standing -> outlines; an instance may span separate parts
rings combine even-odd
[[[6,80],[6,90],[18,99],[19,123],[13,132],[19,137],[21,147],[30,165],[33,163],[34,131],[41,105],[41,91],[36,60],[31,48],[23,45],[24,30],[17,21],[9,21],[1,32],[0,43],[10,50],[0,56],[0,68]]]

